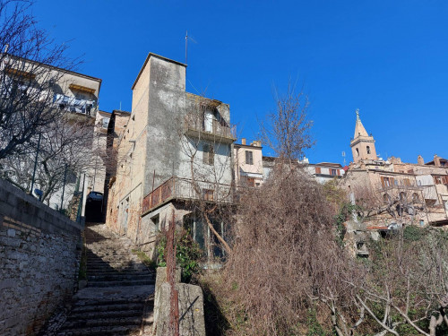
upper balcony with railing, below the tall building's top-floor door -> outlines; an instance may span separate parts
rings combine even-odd
[[[216,119],[205,120],[203,116],[185,116],[185,134],[216,143],[233,143],[237,140],[234,127],[223,125]]]

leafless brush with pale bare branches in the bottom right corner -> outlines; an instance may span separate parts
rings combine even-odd
[[[379,244],[365,281],[355,285],[358,302],[380,328],[377,335],[446,331],[446,234],[408,227]]]

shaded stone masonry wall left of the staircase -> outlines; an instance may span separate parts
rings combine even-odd
[[[73,295],[82,225],[0,179],[0,335],[34,335]]]

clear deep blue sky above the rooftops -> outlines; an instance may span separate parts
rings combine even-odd
[[[103,110],[130,110],[148,52],[185,62],[188,30],[187,90],[228,103],[240,137],[255,140],[273,86],[293,78],[311,103],[311,162],[352,159],[356,108],[384,159],[448,157],[448,1],[37,0],[33,13],[103,80]]]

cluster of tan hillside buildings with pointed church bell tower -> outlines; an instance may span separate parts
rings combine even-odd
[[[350,142],[353,162],[340,185],[370,207],[368,222],[387,227],[395,223],[448,224],[448,166],[434,156],[424,162],[404,163],[400,158],[378,158],[375,139],[368,135],[358,110],[355,136]]]

